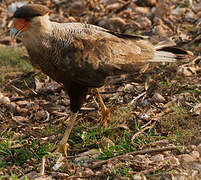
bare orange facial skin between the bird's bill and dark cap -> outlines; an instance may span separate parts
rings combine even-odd
[[[24,32],[29,28],[30,23],[31,23],[30,20],[26,20],[24,18],[19,19],[15,18],[13,21],[13,27],[19,30],[20,32]]]

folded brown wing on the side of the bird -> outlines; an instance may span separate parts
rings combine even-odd
[[[99,87],[107,76],[139,71],[154,51],[152,44],[139,37],[82,32],[73,35],[62,69],[79,84]]]

